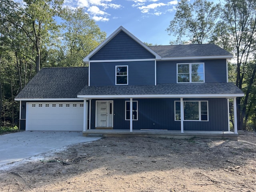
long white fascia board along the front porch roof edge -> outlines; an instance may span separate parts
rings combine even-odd
[[[178,95],[78,95],[78,98],[231,98],[243,97],[244,94],[178,94]]]

